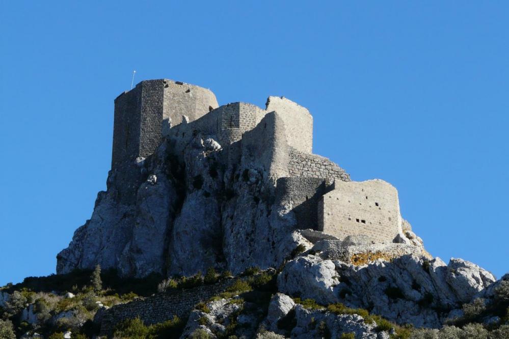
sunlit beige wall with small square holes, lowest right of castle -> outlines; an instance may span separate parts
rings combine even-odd
[[[336,181],[318,204],[319,231],[344,239],[367,235],[374,242],[392,242],[401,232],[397,190],[383,180]]]

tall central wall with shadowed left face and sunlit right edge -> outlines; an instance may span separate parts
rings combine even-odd
[[[288,176],[288,143],[285,125],[277,112],[267,113],[258,125],[242,136],[242,165],[257,168],[275,184]]]

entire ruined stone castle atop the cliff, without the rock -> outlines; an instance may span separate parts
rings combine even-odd
[[[146,80],[115,100],[112,170],[154,153],[163,139],[175,152],[199,136],[223,149],[230,165],[255,168],[291,207],[299,229],[344,239],[365,235],[392,242],[401,232],[397,190],[382,180],[354,182],[328,158],[312,153],[313,118],[284,97],[265,109],[218,106],[209,90],[168,79]]]

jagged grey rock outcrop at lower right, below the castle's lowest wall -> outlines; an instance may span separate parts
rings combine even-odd
[[[450,310],[471,301],[494,281],[489,272],[458,259],[445,265],[440,258],[428,261],[407,255],[355,266],[307,255],[285,266],[278,289],[322,304],[339,301],[367,308],[401,324],[439,327]]]

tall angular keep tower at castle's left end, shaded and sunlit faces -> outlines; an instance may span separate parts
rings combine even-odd
[[[152,154],[164,124],[191,122],[217,107],[211,91],[192,84],[168,79],[138,83],[115,99],[112,169],[122,161]]]

